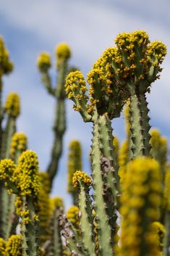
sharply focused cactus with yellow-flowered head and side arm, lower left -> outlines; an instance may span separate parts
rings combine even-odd
[[[21,154],[18,165],[12,160],[1,160],[0,178],[10,193],[19,195],[20,210],[17,211],[22,219],[22,251],[23,255],[38,255],[37,228],[35,202],[38,197],[40,181],[38,177],[38,159],[34,152],[25,151]]]

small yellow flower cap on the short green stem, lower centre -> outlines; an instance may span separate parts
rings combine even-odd
[[[88,174],[82,172],[81,170],[77,170],[72,177],[72,185],[77,187],[80,183],[84,183],[87,186],[90,186],[92,180]]]

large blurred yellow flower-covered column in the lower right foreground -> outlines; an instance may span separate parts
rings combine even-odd
[[[155,256],[156,241],[151,223],[158,219],[161,203],[162,185],[158,162],[150,157],[137,157],[127,165],[126,181],[122,184],[120,208],[122,255]]]

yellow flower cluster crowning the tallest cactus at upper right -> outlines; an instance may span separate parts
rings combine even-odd
[[[158,41],[150,43],[148,34],[143,30],[136,30],[132,33],[121,33],[116,37],[116,46],[122,53],[123,78],[125,80],[134,78],[137,86],[140,80],[149,79],[145,84],[145,90],[161,72],[159,65],[166,55],[166,46]],[[150,72],[150,70],[155,70]],[[151,75],[152,74],[152,75]],[[141,85],[144,86],[144,85]]]

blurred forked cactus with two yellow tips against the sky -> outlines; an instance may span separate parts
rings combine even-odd
[[[56,88],[52,86],[51,78],[48,73],[48,70],[51,67],[51,59],[49,54],[43,52],[38,57],[38,69],[41,73],[41,80],[46,86],[48,93],[54,96],[56,99],[55,120],[53,127],[54,144],[51,150],[51,160],[47,168],[51,186],[58,170],[59,158],[61,157],[62,153],[62,141],[64,132],[66,130],[64,82],[65,76],[68,72],[68,60],[70,57],[71,51],[67,44],[61,43],[56,46],[56,69],[58,70]]]

